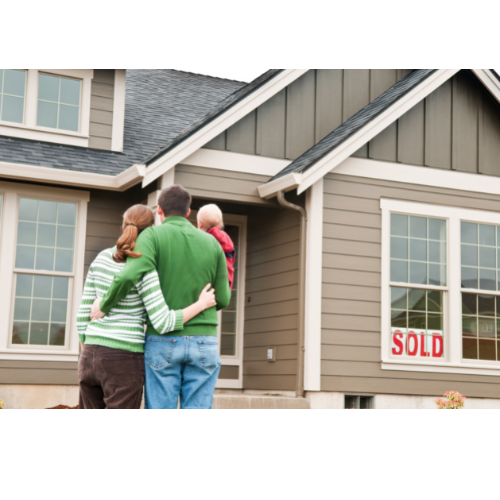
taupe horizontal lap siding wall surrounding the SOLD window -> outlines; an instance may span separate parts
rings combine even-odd
[[[500,196],[328,174],[321,389],[424,396],[456,390],[500,398],[500,377],[381,369],[381,198],[500,211]]]

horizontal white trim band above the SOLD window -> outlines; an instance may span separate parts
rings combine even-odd
[[[348,158],[331,173],[500,195],[500,177],[432,167],[416,167],[404,163]]]

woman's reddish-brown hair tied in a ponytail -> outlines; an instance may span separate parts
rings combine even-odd
[[[142,257],[139,252],[134,252],[135,242],[144,229],[154,226],[155,215],[145,205],[134,205],[123,214],[123,234],[116,244],[113,260],[123,263],[127,257],[137,259]]]

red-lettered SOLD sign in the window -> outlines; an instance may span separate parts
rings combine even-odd
[[[442,331],[392,329],[392,354],[414,358],[442,358],[444,352]]]

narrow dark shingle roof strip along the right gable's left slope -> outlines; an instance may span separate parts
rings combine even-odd
[[[393,85],[389,90],[377,97],[372,103],[365,106],[361,111],[349,118],[340,127],[327,135],[302,156],[293,161],[290,165],[276,174],[269,182],[279,179],[284,175],[291,173],[303,173],[308,170],[320,158],[330,153],[339,144],[355,134],[368,122],[373,120],[380,113],[392,106],[397,100],[403,97],[410,90],[422,83],[426,78],[432,75],[436,69],[416,69],[402,80]]]

